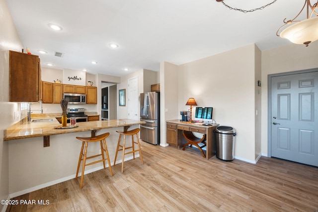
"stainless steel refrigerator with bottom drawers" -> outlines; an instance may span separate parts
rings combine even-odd
[[[140,94],[140,138],[155,145],[160,144],[160,94],[148,92]]]

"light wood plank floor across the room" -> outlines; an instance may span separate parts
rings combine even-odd
[[[318,212],[318,168],[261,157],[258,163],[206,160],[185,151],[142,142],[140,158],[17,197],[49,205],[12,206],[7,211],[61,212]],[[74,169],[77,164],[74,164]]]

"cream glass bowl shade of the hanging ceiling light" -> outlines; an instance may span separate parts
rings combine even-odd
[[[296,44],[308,45],[318,40],[318,16],[288,26],[280,36]]]

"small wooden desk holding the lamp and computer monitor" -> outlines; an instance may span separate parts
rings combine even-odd
[[[202,125],[198,123],[191,123],[188,121],[168,120],[166,121],[166,137],[169,145],[182,148],[187,140],[182,134],[182,130],[199,132],[206,134],[206,159],[213,157],[216,154],[216,139],[214,130],[219,124]]]

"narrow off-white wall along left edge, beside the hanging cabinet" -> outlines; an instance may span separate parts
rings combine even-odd
[[[0,0],[0,200],[9,198],[8,141],[3,141],[3,130],[20,118],[19,105],[9,103],[9,54],[8,50],[21,51],[23,45],[8,11],[6,1]],[[0,211],[5,205],[0,205]]]

